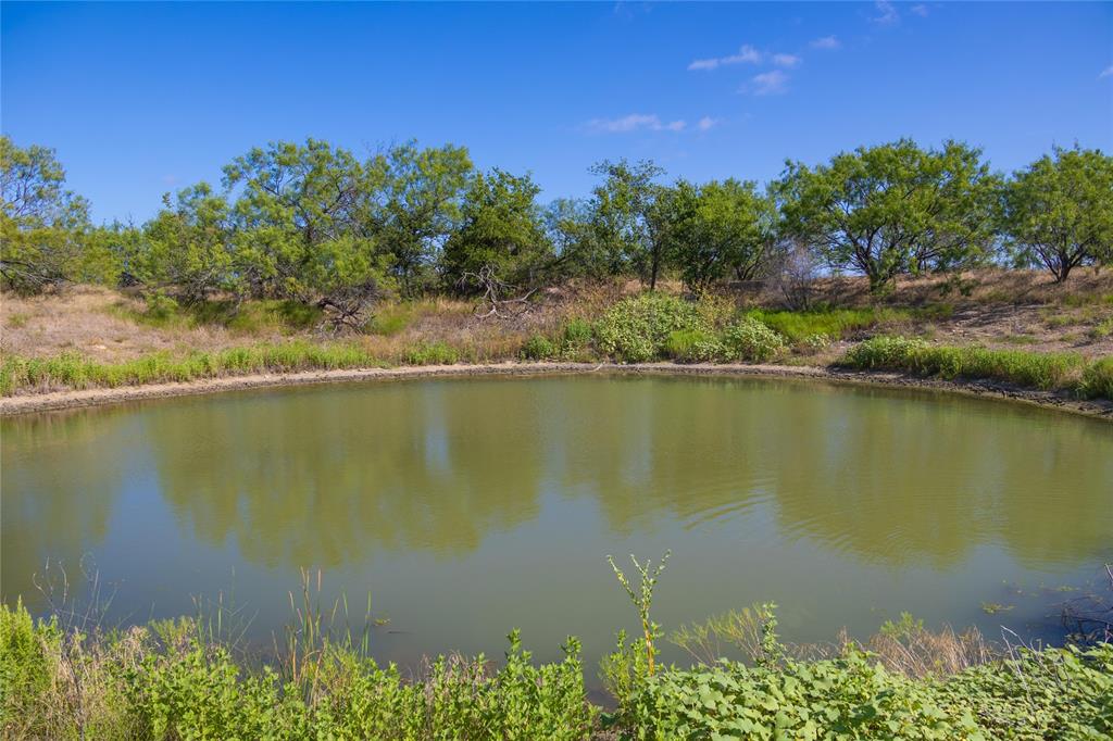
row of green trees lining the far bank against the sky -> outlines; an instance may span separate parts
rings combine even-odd
[[[603,161],[587,199],[539,202],[529,174],[480,171],[467,150],[413,142],[366,159],[274,142],[164,197],[142,225],[93,226],[53,150],[0,138],[6,288],[144,286],[184,302],[284,298],[356,318],[385,296],[525,292],[573,277],[725,279],[823,271],[883,292],[905,274],[987,263],[1056,280],[1113,261],[1113,158],[1055,148],[1004,176],[979,149],[902,139],[751,180],[664,181]]]

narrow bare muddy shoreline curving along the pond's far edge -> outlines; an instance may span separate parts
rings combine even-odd
[[[148,384],[120,388],[47,392],[0,398],[0,416],[53,412],[173,396],[215,394],[224,391],[296,386],[356,381],[386,381],[450,376],[539,376],[553,374],[619,373],[628,375],[737,376],[765,378],[812,378],[841,384],[922,388],[1020,402],[1113,422],[1113,403],[1083,401],[1055,392],[1018,388],[991,382],[918,378],[898,373],[861,372],[814,366],[785,365],[680,365],[674,363],[495,363],[485,365],[412,366],[349,370],[305,370],[264,373],[206,378],[185,383]]]

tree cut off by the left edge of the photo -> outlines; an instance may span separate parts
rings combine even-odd
[[[82,256],[89,205],[65,189],[53,149],[0,136],[0,283],[35,293],[71,280]]]

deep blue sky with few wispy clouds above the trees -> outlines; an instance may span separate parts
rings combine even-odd
[[[1113,150],[1113,3],[60,4],[2,12],[2,130],[98,220],[274,139],[416,138],[584,196],[602,158],[775,177],[957,138]]]

